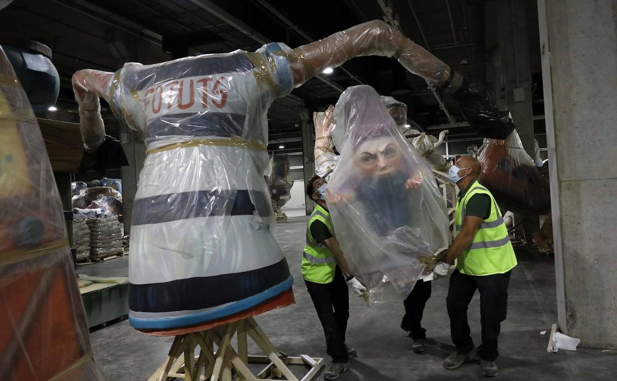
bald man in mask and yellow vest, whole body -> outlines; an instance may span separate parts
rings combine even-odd
[[[450,180],[460,190],[455,216],[460,233],[444,259],[450,263],[458,258],[446,299],[450,333],[457,349],[444,360],[444,367],[455,369],[478,357],[482,374],[495,377],[497,337],[506,317],[508,284],[516,256],[495,198],[478,182],[481,171],[480,163],[471,156],[461,157],[449,170]],[[482,324],[482,345],[477,350],[467,323],[467,307],[476,289]]]

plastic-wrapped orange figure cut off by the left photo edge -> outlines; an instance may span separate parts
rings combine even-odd
[[[1,48],[0,129],[0,380],[105,380],[41,130]]]

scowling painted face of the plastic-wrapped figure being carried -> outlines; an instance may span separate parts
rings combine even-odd
[[[402,153],[391,136],[379,136],[358,145],[354,160],[367,177],[390,175],[400,169]]]

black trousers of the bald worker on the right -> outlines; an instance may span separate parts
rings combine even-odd
[[[467,307],[477,288],[480,293],[482,324],[482,345],[478,347],[478,354],[486,361],[495,361],[499,356],[497,337],[508,309],[510,275],[511,270],[504,274],[483,277],[461,274],[458,270],[452,273],[446,301],[452,342],[457,346],[458,353],[466,353],[473,348],[467,323]]]

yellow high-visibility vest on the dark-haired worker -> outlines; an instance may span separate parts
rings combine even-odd
[[[330,283],[334,279],[336,260],[332,252],[323,245],[323,242],[315,241],[310,232],[311,225],[317,220],[326,224],[326,227],[334,236],[332,217],[326,209],[315,204],[315,210],[313,210],[307,225],[307,244],[304,246],[304,253],[302,253],[302,277],[309,282]]]

